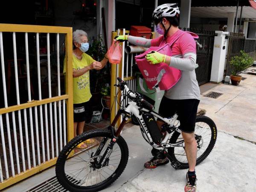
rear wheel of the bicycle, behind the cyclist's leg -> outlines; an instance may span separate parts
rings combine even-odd
[[[217,139],[217,128],[215,123],[207,116],[197,116],[195,120],[195,139],[198,143],[196,165],[201,163],[210,154]],[[183,141],[182,135],[175,131],[170,139],[170,143]],[[186,152],[183,147],[168,148],[171,161],[178,166],[178,169],[189,168]]]

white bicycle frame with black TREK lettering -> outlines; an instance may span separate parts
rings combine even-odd
[[[154,112],[154,111],[148,111],[145,108],[141,109],[143,112],[149,112],[151,113],[153,116],[161,119],[163,122],[166,122],[166,124],[168,124],[170,127],[174,126],[175,121],[177,120],[177,114],[175,114],[172,118],[164,118],[163,116],[161,116],[160,114]],[[117,120],[119,119],[119,117],[124,114],[125,118],[123,118],[123,121],[121,122],[119,128],[117,129],[116,133],[114,134],[115,137],[119,137],[125,122],[128,120],[128,116],[130,116],[130,114],[133,113],[138,121],[140,122],[140,129],[143,135],[143,138],[154,148],[158,149],[158,150],[163,150],[165,148],[169,148],[169,147],[184,147],[184,143],[183,141],[179,142],[179,143],[174,143],[174,144],[169,144],[169,140],[172,136],[172,132],[173,131],[178,131],[179,133],[181,133],[181,131],[178,128],[175,128],[171,133],[166,131],[166,136],[164,137],[164,139],[162,140],[161,143],[156,144],[153,142],[151,135],[149,134],[148,128],[145,125],[145,122],[143,120],[142,115],[140,114],[140,108],[136,105],[135,102],[133,101],[129,101],[128,105],[126,106],[126,108],[124,110],[120,109],[117,114],[115,119],[113,120],[111,126],[114,127]]]

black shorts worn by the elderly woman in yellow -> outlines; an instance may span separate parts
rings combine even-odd
[[[93,116],[93,110],[92,105],[90,101],[74,104],[73,105],[74,110],[74,122],[83,122],[89,123],[92,116]]]

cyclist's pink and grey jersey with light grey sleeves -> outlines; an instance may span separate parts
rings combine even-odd
[[[172,41],[182,32],[178,29],[172,36],[167,38],[161,36],[156,39],[128,36],[128,41],[142,47],[162,47],[166,43],[172,44]],[[196,44],[192,35],[195,34],[184,33],[172,44],[172,56],[169,65],[180,69],[182,75],[177,84],[165,91],[165,96],[169,99],[200,100],[200,89],[195,75]],[[198,36],[195,35],[195,38]]]

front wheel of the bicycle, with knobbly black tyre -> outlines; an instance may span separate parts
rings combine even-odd
[[[71,192],[95,192],[113,183],[124,171],[128,161],[128,146],[119,136],[102,167],[102,158],[112,137],[106,130],[92,130],[73,138],[61,151],[56,163],[56,177]],[[82,143],[82,145],[81,145]],[[71,151],[74,151],[69,158]]]

